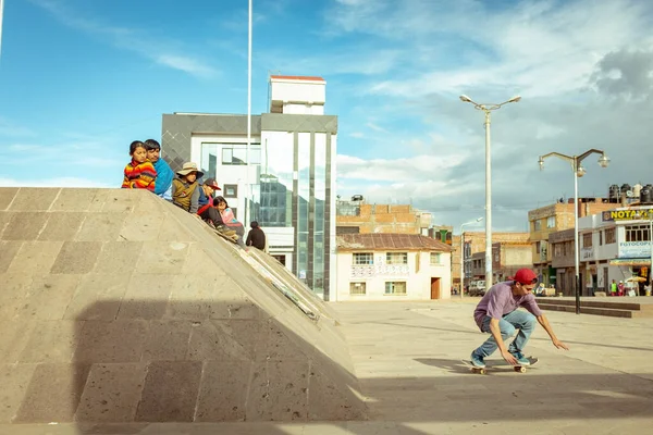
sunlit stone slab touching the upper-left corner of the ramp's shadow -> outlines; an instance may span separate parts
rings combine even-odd
[[[78,275],[35,276],[17,315],[34,320],[63,319],[78,282]]]

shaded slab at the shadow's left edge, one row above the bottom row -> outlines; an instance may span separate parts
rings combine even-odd
[[[86,321],[77,334],[74,361],[140,362],[148,327],[141,320]]]

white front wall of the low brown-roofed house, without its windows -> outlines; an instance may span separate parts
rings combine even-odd
[[[354,265],[352,252],[336,254],[336,290],[332,300],[430,300],[431,277],[440,278],[440,298],[451,298],[451,253],[441,254],[441,264],[432,265],[429,251],[408,252],[408,264],[385,265],[385,251],[374,252],[374,265]],[[417,263],[419,261],[419,271]],[[385,295],[385,282],[406,282],[406,295]],[[366,283],[366,295],[350,295],[350,283]]]

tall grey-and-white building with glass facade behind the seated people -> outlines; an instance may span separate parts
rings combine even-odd
[[[270,253],[329,300],[335,283],[337,116],[324,114],[321,77],[270,77],[270,113],[163,114],[173,170],[194,161],[215,177],[236,217],[258,221]]]

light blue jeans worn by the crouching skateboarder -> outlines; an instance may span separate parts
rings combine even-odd
[[[485,319],[483,319],[482,331],[484,333],[490,333],[491,320],[492,318],[490,318],[489,315],[486,315]],[[535,328],[535,321],[537,320],[533,314],[521,310],[515,310],[513,312],[509,312],[506,315],[504,315],[502,320],[498,321],[501,337],[504,341],[513,335],[515,335],[515,330],[519,330],[519,334],[517,334],[517,337],[508,346],[508,351],[510,353],[523,351],[523,348],[528,343],[530,335]],[[478,349],[476,349],[473,353],[482,358],[490,357],[492,353],[494,353],[498,345],[496,344],[496,340],[492,335],[490,335],[490,338],[488,338],[485,343],[483,343]]]

